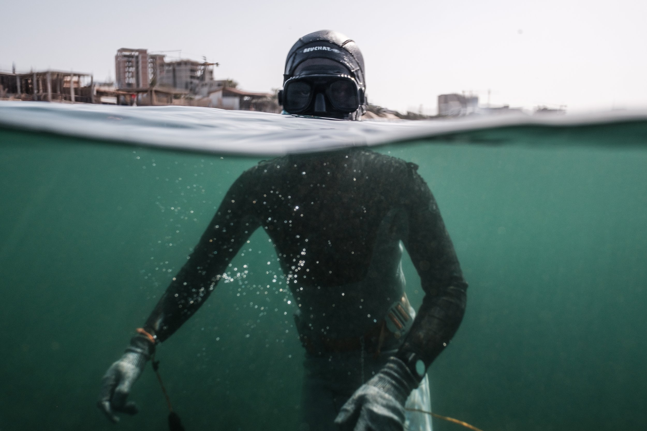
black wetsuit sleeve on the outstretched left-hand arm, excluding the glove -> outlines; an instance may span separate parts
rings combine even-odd
[[[227,265],[260,225],[254,213],[252,171],[243,173],[228,190],[186,264],[175,275],[144,328],[162,342],[208,298]]]

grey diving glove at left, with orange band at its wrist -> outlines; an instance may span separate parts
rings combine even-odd
[[[105,372],[96,405],[111,421],[119,421],[116,412],[137,413],[137,405],[133,401],[126,401],[126,398],[154,352],[155,346],[148,338],[137,335],[131,339],[126,353]]]

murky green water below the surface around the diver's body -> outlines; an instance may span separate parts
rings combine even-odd
[[[644,429],[647,150],[621,138],[377,150],[420,165],[470,283],[430,368],[435,412],[485,431]],[[0,430],[117,429],[94,406],[103,373],[258,160],[8,130],[0,143]],[[232,272],[244,265],[158,349],[188,431],[300,429],[303,351],[262,231]],[[417,306],[408,258],[404,271]],[[140,413],[118,429],[166,429],[149,367],[131,398]]]

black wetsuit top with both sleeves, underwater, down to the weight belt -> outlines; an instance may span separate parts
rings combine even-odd
[[[429,365],[465,310],[467,284],[417,166],[351,149],[261,162],[234,182],[145,328],[164,341],[204,303],[248,237],[272,239],[298,310],[302,339],[360,337],[404,289],[400,241],[425,296],[398,355]],[[375,333],[375,332],[373,332]],[[381,342],[381,341],[380,341]]]

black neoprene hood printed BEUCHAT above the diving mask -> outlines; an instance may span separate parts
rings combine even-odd
[[[364,58],[355,41],[333,30],[319,30],[306,34],[294,45],[285,59],[283,82],[294,76],[294,69],[309,58],[329,58],[349,68],[360,87],[364,81]]]

